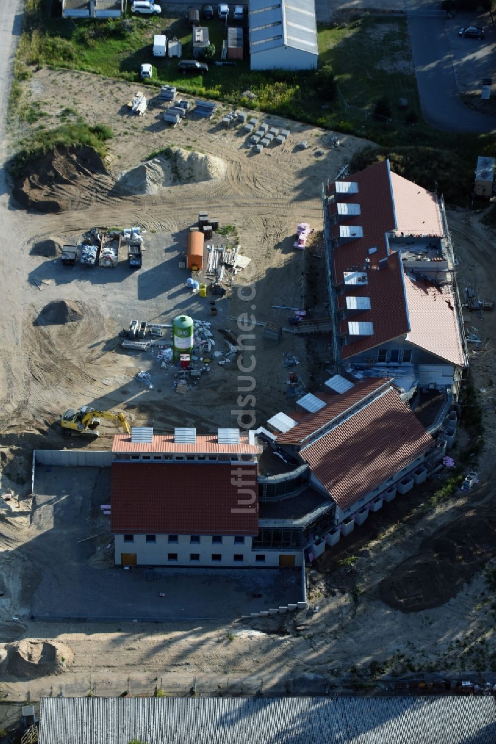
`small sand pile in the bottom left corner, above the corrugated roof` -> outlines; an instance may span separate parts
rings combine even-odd
[[[74,653],[58,641],[32,641],[26,638],[5,645],[1,669],[16,678],[61,674],[71,667]]]

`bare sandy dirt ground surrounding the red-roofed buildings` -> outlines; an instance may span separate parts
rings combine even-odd
[[[236,132],[219,126],[219,118],[176,129],[164,128],[159,109],[151,109],[144,118],[130,118],[126,102],[135,86],[48,70],[36,72],[30,86],[33,100],[39,100],[48,112],[46,126],[56,124],[62,108],[71,106],[90,123],[112,126],[115,138],[109,142],[108,174],[81,177],[65,211],[26,212],[11,201],[10,209],[4,212],[19,243],[16,260],[5,263],[0,274],[0,286],[4,296],[11,298],[12,310],[10,320],[2,324],[0,339],[0,385],[5,391],[0,403],[1,487],[3,492],[8,489],[21,496],[21,501],[19,507],[15,503],[11,509],[5,506],[0,514],[0,575],[9,586],[9,596],[0,597],[2,640],[66,644],[74,653],[71,669],[63,672],[66,689],[71,684],[86,684],[92,674],[109,684],[116,677],[123,680],[128,675],[146,675],[151,684],[162,674],[181,671],[220,676],[348,673],[352,667],[368,668],[373,660],[388,669],[405,671],[430,666],[438,670],[477,669],[482,658],[484,667],[495,668],[494,620],[490,604],[483,601],[486,577],[477,560],[471,571],[464,571],[470,581],[463,586],[460,582],[456,597],[447,596],[442,606],[405,614],[384,603],[380,594],[381,581],[399,565],[408,568],[411,560],[437,560],[430,537],[442,536],[439,530],[449,529],[455,520],[463,523],[466,515],[482,509],[488,522],[494,519],[492,342],[486,350],[471,353],[475,388],[483,391],[485,450],[478,466],[480,484],[468,496],[460,492],[436,508],[417,513],[410,522],[403,523],[405,515],[394,510],[388,513],[385,507],[380,516],[371,516],[366,522],[363,539],[357,529],[350,548],[343,541],[334,552],[326,551],[326,560],[331,562],[347,557],[349,550],[358,556],[352,567],[348,563],[331,566],[331,574],[315,566],[310,600],[320,609],[310,618],[299,616],[299,625],[292,619],[279,629],[274,623],[260,623],[257,633],[236,636],[233,633],[238,626],[219,623],[164,623],[160,627],[138,623],[110,628],[32,623],[26,617],[18,618],[34,584],[22,580],[22,576],[29,576],[30,564],[19,559],[22,551],[17,548],[51,528],[50,519],[40,521],[36,516],[36,504],[28,496],[30,451],[33,446],[64,446],[57,429],[57,415],[64,406],[118,406],[132,423],[150,423],[158,431],[170,430],[178,423],[196,424],[204,431],[232,425],[234,371],[212,365],[210,379],[178,402],[170,371],[162,371],[151,354],[126,354],[117,347],[117,333],[130,315],[168,319],[180,307],[193,317],[210,318],[207,306],[185,292],[186,275],[178,268],[187,228],[196,221],[198,211],[206,209],[219,217],[221,224],[235,226],[239,243],[251,258],[245,275],[236,280],[254,282],[257,321],[277,317],[284,324],[290,312],[276,316],[280,311],[271,306],[300,306],[302,272],[309,275],[306,301],[310,297],[310,303],[323,311],[322,261],[310,251],[305,257],[296,254],[292,235],[301,220],[321,225],[322,182],[335,178],[352,154],[369,144],[339,135],[343,144],[338,150],[329,150],[321,130],[285,121],[292,131],[289,141],[252,157]],[[65,92],[63,100],[61,90]],[[274,118],[271,121],[275,123]],[[29,128],[22,126],[28,133]],[[20,129],[11,132],[13,141],[20,133]],[[309,141],[309,150],[294,150],[303,138]],[[113,187],[120,173],[150,153],[173,146],[221,158],[226,164],[225,178],[171,185],[146,196],[115,195]],[[323,156],[316,155],[320,149]],[[494,234],[484,227],[482,216],[482,212],[454,210],[449,212],[448,222],[459,260],[460,288],[470,284],[481,298],[495,299]],[[139,278],[137,273],[129,275],[124,266],[94,269],[92,275],[84,275],[83,267],[74,267],[73,272],[59,266],[57,246],[48,241],[60,245],[80,239],[93,225],[140,225],[146,229],[148,247]],[[315,251],[318,254],[318,237]],[[71,307],[77,307],[83,317],[65,325],[33,324],[45,307],[58,301],[74,303]],[[235,292],[219,304],[219,315],[213,321],[219,348],[224,343],[219,330],[228,327],[236,334],[231,318],[245,310],[245,304],[236,299]],[[468,325],[476,327],[482,339],[495,339],[496,313],[467,315]],[[257,415],[262,422],[277,410],[289,409],[283,354],[295,353],[300,359],[297,371],[306,387],[318,389],[325,379],[329,348],[325,339],[309,342],[287,335],[274,347],[262,339],[260,328],[256,336]],[[152,391],[134,379],[141,368],[152,374]],[[106,427],[97,446],[108,446],[114,431],[112,426]],[[376,519],[381,528],[377,533],[367,532]],[[468,546],[463,553],[468,565],[471,556]],[[485,554],[489,557],[490,551]],[[0,684],[12,696],[25,691],[21,683],[10,679],[6,682],[0,677]],[[40,674],[37,681],[31,680],[30,690],[47,693],[51,684],[59,681]]]

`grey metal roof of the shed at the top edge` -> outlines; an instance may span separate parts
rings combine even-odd
[[[318,54],[314,0],[250,0],[250,53],[291,47]]]

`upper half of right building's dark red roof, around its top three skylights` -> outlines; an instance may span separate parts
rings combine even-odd
[[[387,160],[359,170],[346,180],[358,183],[358,193],[335,193],[335,184],[329,185],[329,193],[335,193],[335,201],[329,204],[329,215],[338,213],[338,202],[359,204],[361,214],[343,215],[338,224],[332,226],[331,234],[332,237],[339,237],[340,225],[358,225],[364,229],[364,237],[344,242],[332,251],[335,283],[341,281],[343,272],[352,266],[361,269],[367,257],[370,257],[372,266],[385,258],[387,246],[384,234],[396,228]],[[368,248],[375,246],[377,251],[369,255]]]

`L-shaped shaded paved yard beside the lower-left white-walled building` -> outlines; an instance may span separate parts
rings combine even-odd
[[[106,551],[108,517],[100,514],[109,488],[109,468],[36,469],[33,537],[22,548],[30,566],[24,577],[28,614],[37,619],[231,621],[301,599],[300,571],[289,569],[110,567],[102,558],[112,555]],[[290,577],[294,583],[285,586]],[[166,596],[159,597],[161,592]]]

